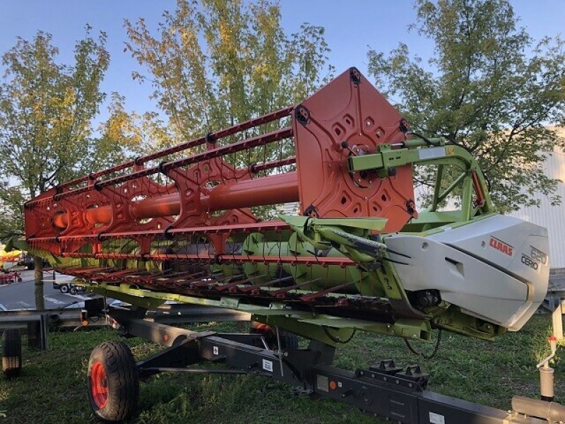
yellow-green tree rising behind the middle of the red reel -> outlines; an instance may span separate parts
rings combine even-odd
[[[156,35],[143,18],[125,24],[126,50],[148,71],[133,78],[155,88],[168,143],[303,100],[333,71],[323,28],[285,35],[275,1],[178,0]]]

